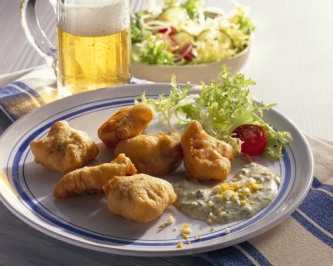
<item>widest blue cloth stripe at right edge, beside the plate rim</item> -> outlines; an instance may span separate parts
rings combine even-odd
[[[311,220],[333,234],[333,197],[320,190],[310,190],[298,207]]]

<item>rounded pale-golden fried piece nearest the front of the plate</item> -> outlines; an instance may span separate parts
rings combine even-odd
[[[140,223],[155,220],[177,197],[169,182],[147,174],[115,176],[103,190],[111,214]]]

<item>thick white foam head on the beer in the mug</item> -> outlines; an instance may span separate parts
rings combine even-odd
[[[129,1],[65,0],[58,4],[58,18],[58,28],[72,35],[112,35],[130,26]]]

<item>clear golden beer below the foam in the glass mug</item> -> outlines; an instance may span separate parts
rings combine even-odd
[[[62,87],[76,94],[130,82],[130,27],[96,37],[57,31],[58,80]]]

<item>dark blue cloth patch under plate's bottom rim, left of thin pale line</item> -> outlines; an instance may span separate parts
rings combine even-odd
[[[255,265],[243,252],[233,246],[206,253],[194,254],[192,257],[204,259],[216,266]]]

